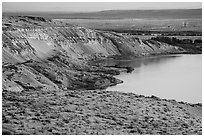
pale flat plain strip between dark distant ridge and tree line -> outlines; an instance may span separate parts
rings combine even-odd
[[[202,19],[55,19],[100,30],[202,31]],[[186,24],[186,25],[184,25]]]

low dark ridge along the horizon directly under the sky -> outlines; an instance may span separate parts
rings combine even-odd
[[[202,9],[161,9],[161,10],[105,10],[99,12],[33,12],[33,13],[3,13],[10,15],[37,15],[51,18],[74,19],[123,19],[123,18],[157,18],[157,19],[202,19]]]

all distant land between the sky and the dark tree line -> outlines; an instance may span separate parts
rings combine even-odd
[[[84,13],[3,13],[42,16],[68,24],[99,30],[202,32],[202,9],[107,10]]]

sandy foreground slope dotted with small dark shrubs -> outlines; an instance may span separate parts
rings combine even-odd
[[[202,134],[201,104],[103,90],[3,91],[3,134]]]

